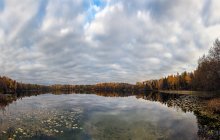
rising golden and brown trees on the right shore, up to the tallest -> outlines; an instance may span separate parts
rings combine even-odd
[[[195,71],[148,80],[143,84],[152,90],[220,90],[220,41],[216,39],[208,54],[199,58]]]

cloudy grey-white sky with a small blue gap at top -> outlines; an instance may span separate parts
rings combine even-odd
[[[219,0],[0,0],[0,75],[135,83],[193,71],[219,38]]]

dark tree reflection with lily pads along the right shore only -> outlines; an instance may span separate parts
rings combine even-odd
[[[220,98],[149,92],[136,96],[157,101],[168,107],[179,108],[183,112],[193,112],[197,117],[198,136],[201,139],[220,139]],[[213,103],[214,102],[214,103]],[[214,106],[213,106],[214,105]]]

